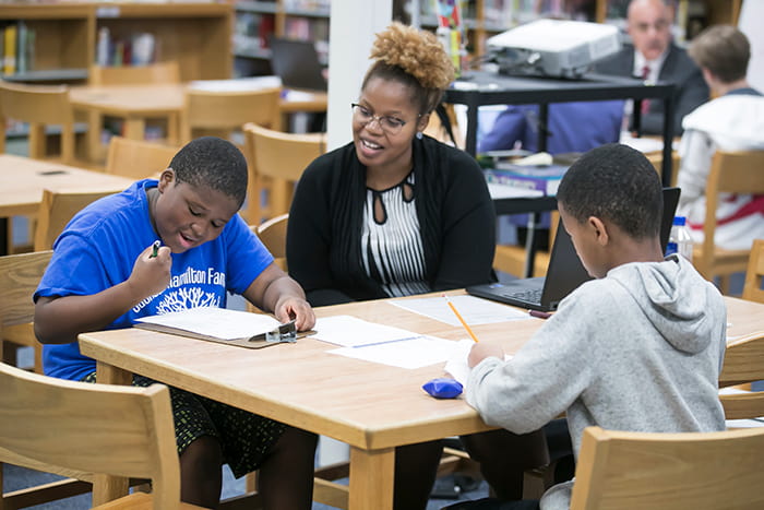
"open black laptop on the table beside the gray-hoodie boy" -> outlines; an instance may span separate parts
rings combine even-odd
[[[664,251],[666,251],[671,232],[677,202],[679,202],[679,188],[664,188],[664,216],[660,222],[660,246]],[[562,298],[588,280],[592,280],[592,276],[581,263],[571,236],[560,222],[546,276],[520,278],[508,283],[471,285],[466,290],[473,296],[506,305],[530,310],[553,311]]]

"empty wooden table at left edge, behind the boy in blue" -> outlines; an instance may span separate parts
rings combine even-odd
[[[34,215],[43,190],[121,191],[133,181],[124,177],[28,157],[0,154],[0,254],[8,247],[8,218]]]

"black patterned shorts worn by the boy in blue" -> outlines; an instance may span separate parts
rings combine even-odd
[[[96,382],[92,372],[82,379]],[[133,376],[133,386],[156,381]],[[238,478],[260,467],[286,426],[279,422],[169,387],[178,454],[202,436],[213,436],[223,448],[223,459]]]

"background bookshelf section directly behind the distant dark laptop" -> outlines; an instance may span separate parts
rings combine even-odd
[[[238,0],[234,33],[237,74],[270,74],[270,35],[312,40],[329,61],[330,0]]]

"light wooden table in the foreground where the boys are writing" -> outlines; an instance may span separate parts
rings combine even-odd
[[[458,294],[458,293],[451,293]],[[764,305],[728,299],[730,335],[764,331]],[[418,333],[458,340],[461,328],[385,300],[317,309],[319,317],[351,315]],[[515,353],[540,319],[474,327],[481,341]],[[215,399],[350,446],[349,508],[392,508],[395,447],[489,430],[463,398],[435,400],[421,386],[443,365],[408,370],[327,354],[335,346],[302,339],[243,349],[140,329],[80,335],[80,348],[98,361],[98,381],[129,383],[130,373]],[[118,497],[124,482],[103,478],[94,505]]]

